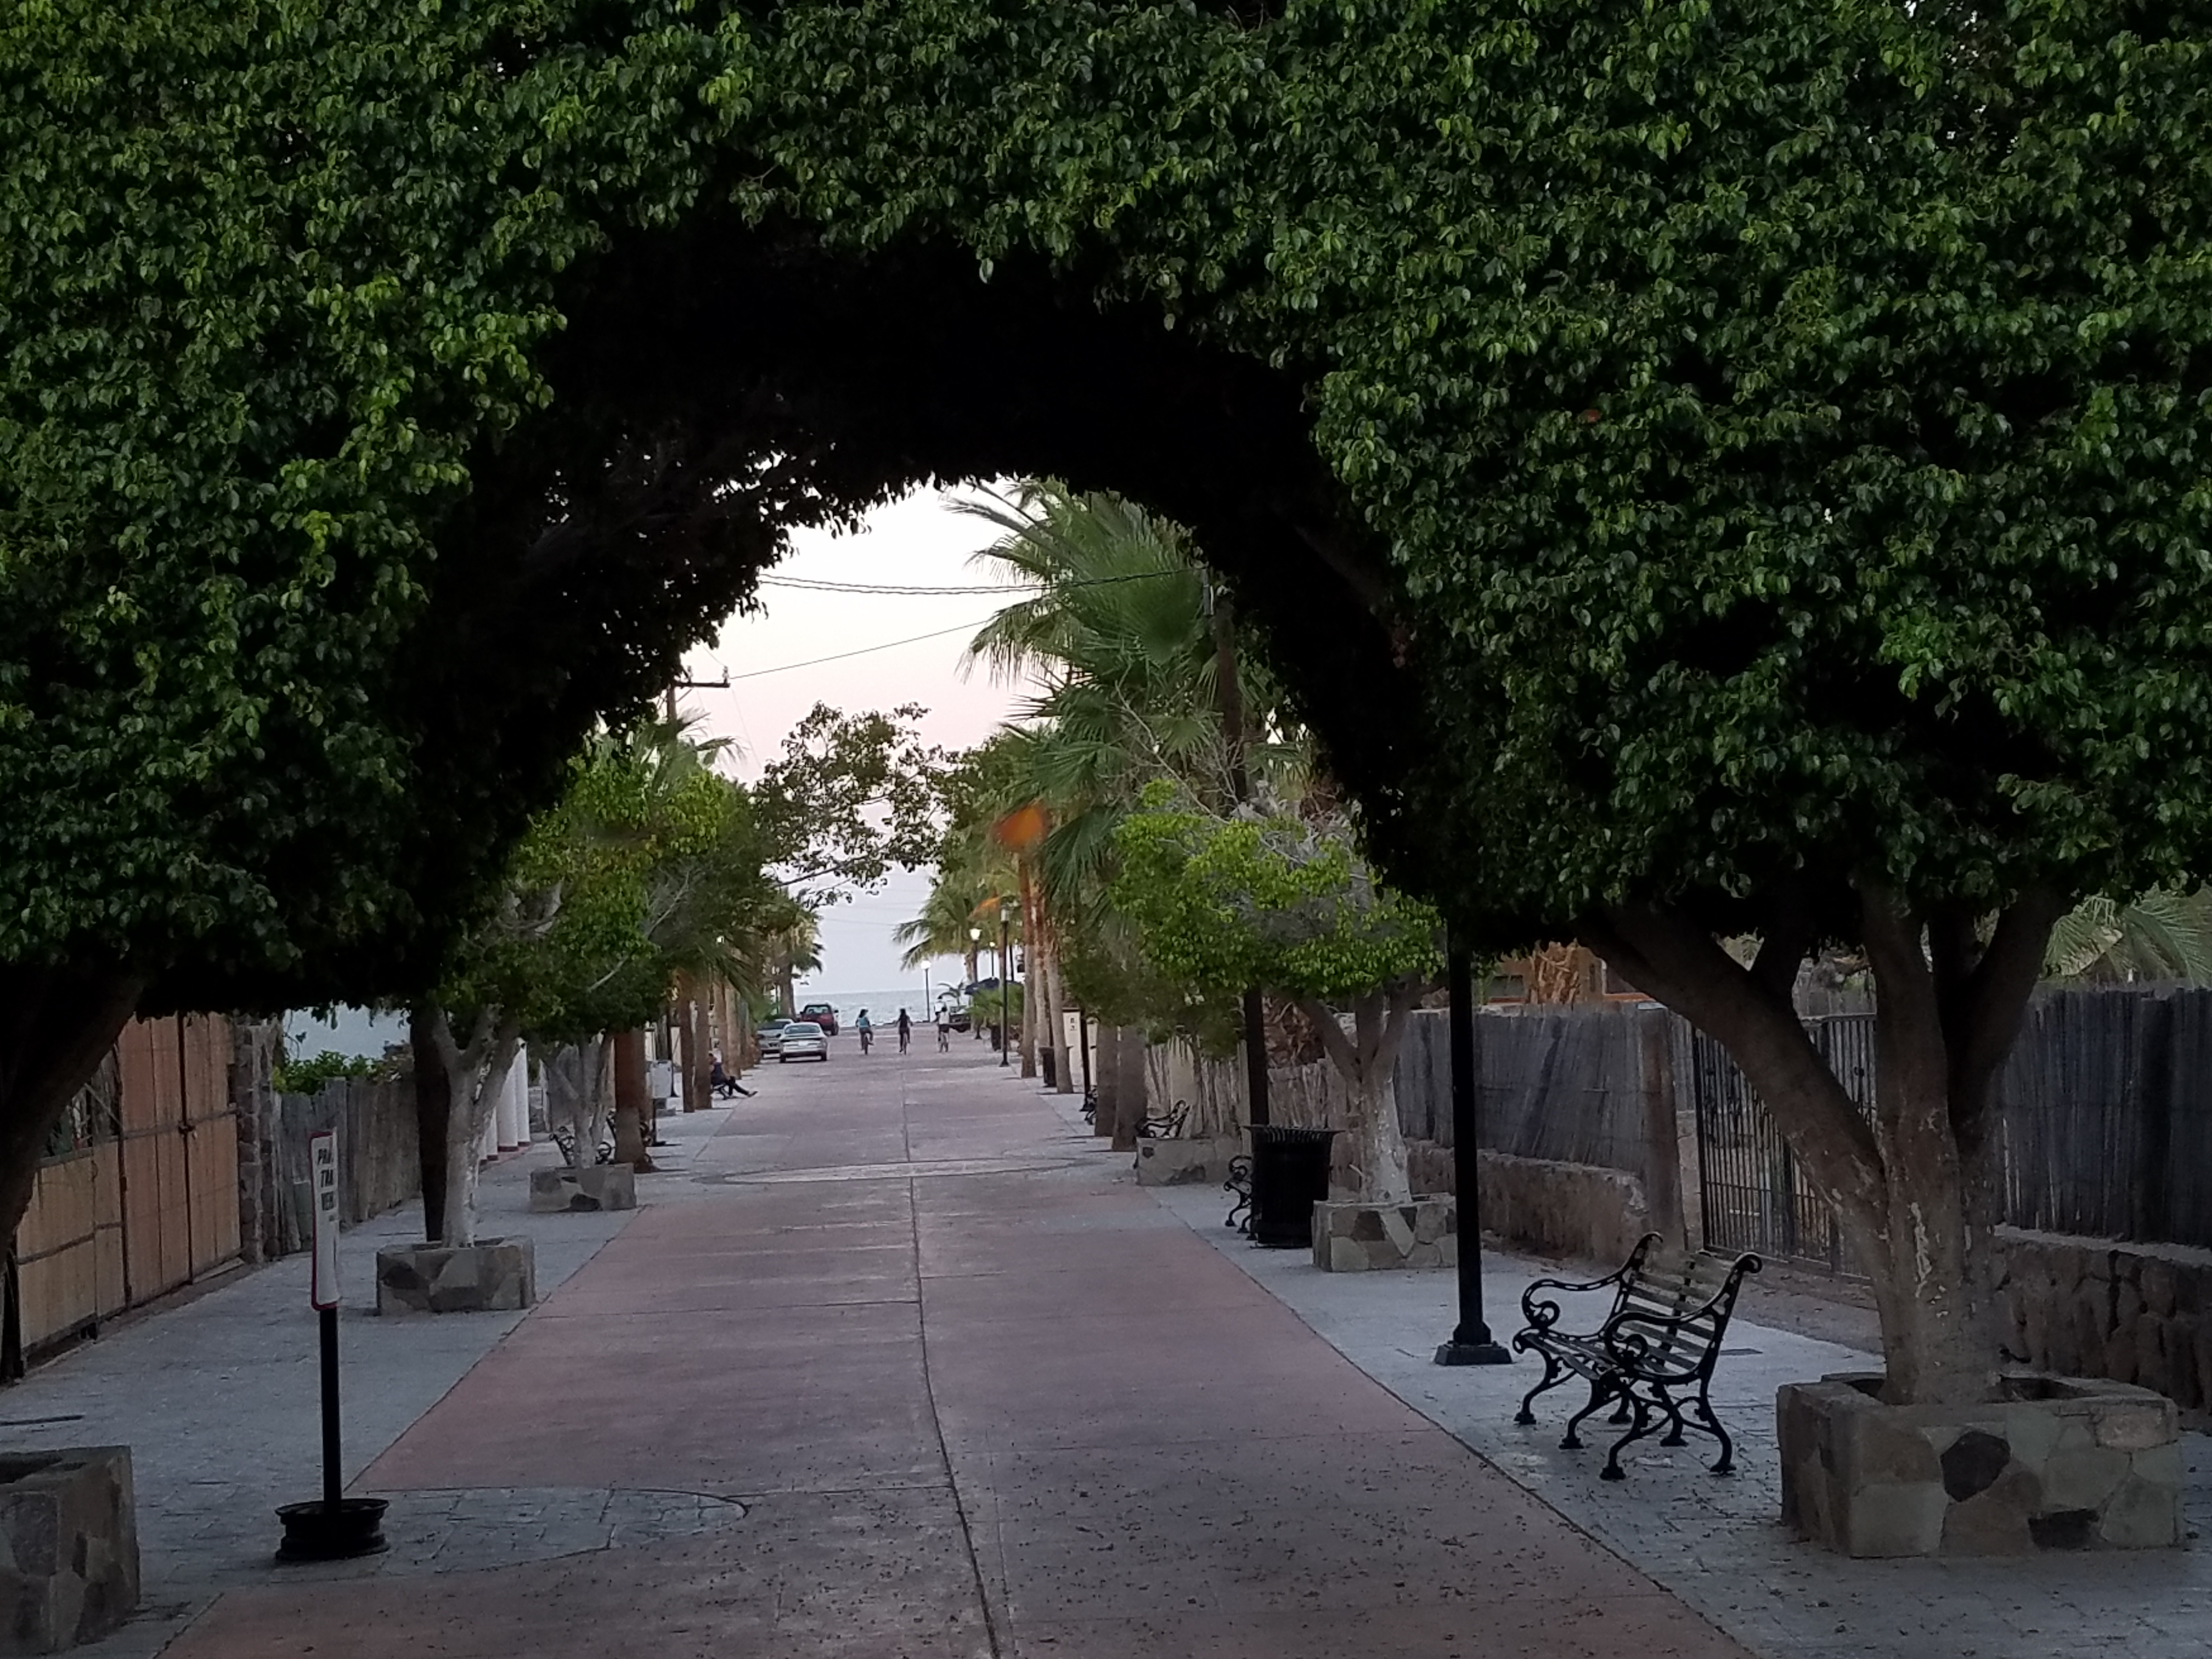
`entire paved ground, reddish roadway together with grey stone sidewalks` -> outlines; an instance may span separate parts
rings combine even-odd
[[[1608,1484],[1601,1451],[1557,1451],[1564,1405],[1513,1427],[1531,1367],[1429,1363],[1451,1274],[1252,1250],[1221,1194],[1137,1188],[978,1046],[841,1042],[759,1091],[675,1119],[630,1214],[533,1217],[526,1168],[487,1170],[482,1232],[538,1245],[531,1314],[347,1310],[347,1473],[392,1500],[383,1557],[270,1562],[270,1511],[316,1489],[301,1261],[9,1391],[7,1449],[133,1447],[146,1610],[86,1652],[2212,1655],[2194,1546],[1885,1564],[1787,1540],[1774,1385],[1849,1347],[1739,1321],[1741,1473],[1646,1442]],[[349,1234],[349,1285],[416,1221]],[[1493,1261],[1493,1325],[1533,1272]],[[2201,1531],[2201,1436],[2190,1460]]]

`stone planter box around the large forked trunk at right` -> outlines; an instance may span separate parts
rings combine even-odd
[[[1845,1555],[2028,1555],[2181,1542],[2181,1422],[2126,1383],[2006,1376],[1986,1405],[1882,1405],[1880,1376],[1774,1400],[1783,1524]]]

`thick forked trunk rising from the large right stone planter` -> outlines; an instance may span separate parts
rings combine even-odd
[[[2028,889],[1982,940],[1962,909],[1916,907],[1858,885],[1874,967],[1876,1088],[1863,1115],[1790,1004],[1816,931],[1778,909],[1743,967],[1710,933],[1650,907],[1586,920],[1584,942],[1637,989],[1721,1042],[1834,1206],[1882,1321],[1882,1398],[1973,1405],[1993,1396],[1993,1108],[2053,922],[2066,905]]]

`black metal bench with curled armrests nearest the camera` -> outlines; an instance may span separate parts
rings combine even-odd
[[[1615,1272],[1575,1285],[1564,1279],[1537,1279],[1522,1292],[1522,1316],[1528,1327],[1513,1338],[1522,1354],[1544,1360],[1544,1378],[1522,1398],[1515,1422],[1535,1422],[1528,1407],[1535,1396],[1579,1376],[1590,1385],[1590,1400],[1566,1422],[1566,1451],[1577,1451],[1575,1433],[1582,1420],[1610,1405],[1613,1422],[1626,1422],[1628,1433],[1613,1442],[1606,1455],[1606,1480],[1621,1480],[1621,1451],[1666,1425],[1661,1447],[1683,1444],[1683,1431],[1697,1429],[1721,1442],[1721,1460],[1712,1473],[1736,1467],[1736,1444],[1712,1413],[1712,1369],[1721,1358],[1721,1338],[1736,1312],[1736,1294],[1745,1274],[1759,1272],[1759,1256],[1714,1256],[1708,1252],[1670,1252],[1657,1232],[1646,1232]],[[1559,1329],[1559,1303],[1540,1298],[1542,1290],[1595,1292],[1613,1287],[1613,1312],[1586,1334]]]

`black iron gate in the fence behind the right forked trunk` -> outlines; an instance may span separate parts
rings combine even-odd
[[[1863,1113],[1874,1110],[1874,1015],[1834,1013],[1805,1022],[1820,1057]],[[1823,1267],[1863,1279],[1845,1250],[1827,1199],[1798,1170],[1767,1108],[1728,1051],[1690,1033],[1697,1097],[1697,1172],[1703,1188],[1705,1248]]]

